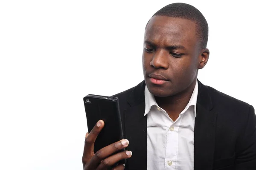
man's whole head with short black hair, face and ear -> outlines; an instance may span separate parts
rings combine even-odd
[[[209,58],[208,25],[195,7],[173,3],[157,11],[145,28],[143,73],[155,96],[185,92]]]

